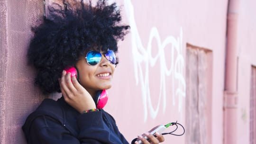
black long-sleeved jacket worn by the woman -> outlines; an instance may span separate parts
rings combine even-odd
[[[22,129],[28,144],[128,144],[103,109],[80,114],[63,98],[45,99]]]

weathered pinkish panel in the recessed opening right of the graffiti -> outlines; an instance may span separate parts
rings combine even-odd
[[[203,50],[186,54],[186,144],[209,144],[206,126],[207,58]]]

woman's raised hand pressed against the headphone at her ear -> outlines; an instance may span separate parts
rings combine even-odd
[[[82,87],[74,76],[71,81],[70,72],[67,74],[65,71],[62,72],[59,84],[65,101],[80,113],[96,108],[90,93]]]

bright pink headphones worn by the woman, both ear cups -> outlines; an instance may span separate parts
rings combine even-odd
[[[75,78],[79,81],[79,72],[75,67],[67,67],[64,70],[66,71],[66,73],[70,72],[71,77],[75,76]],[[97,108],[102,109],[107,104],[108,99],[109,99],[109,95],[107,90],[99,90],[93,100]]]

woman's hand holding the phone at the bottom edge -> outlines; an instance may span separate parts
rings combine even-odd
[[[145,136],[148,137],[149,141],[147,141],[144,138]],[[163,135],[156,132],[155,136],[146,132],[143,135],[139,135],[137,139],[141,140],[142,144],[159,144],[165,141],[165,138]],[[139,144],[139,143],[136,141],[135,144]]]

